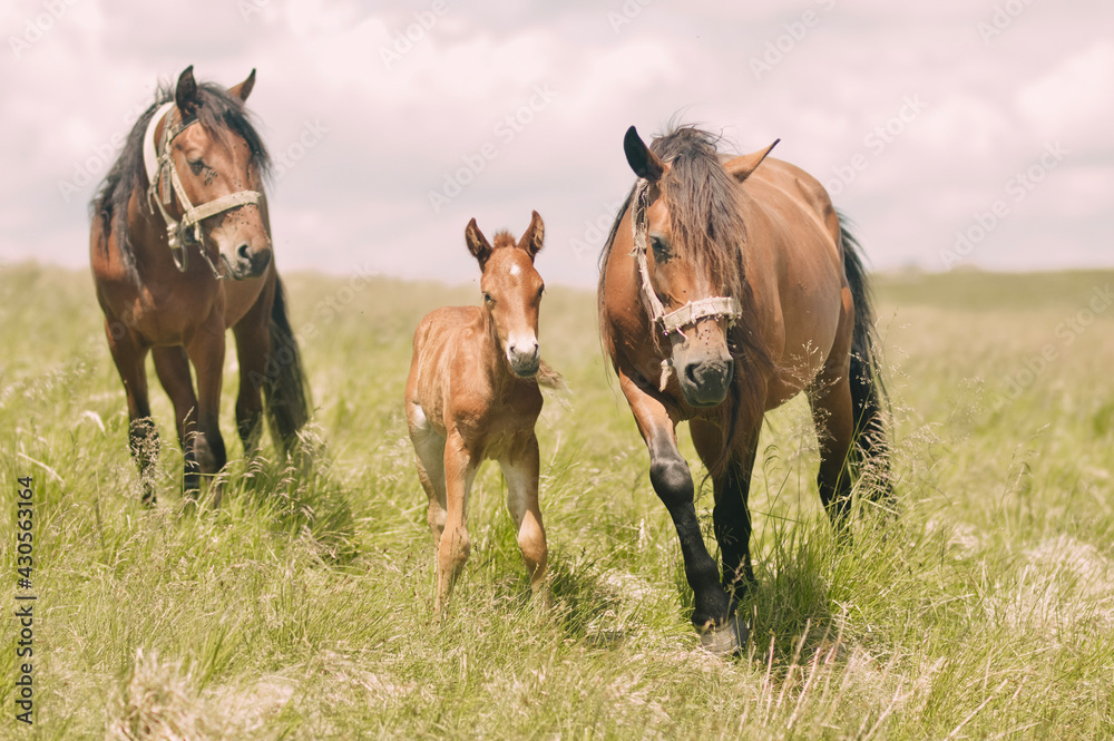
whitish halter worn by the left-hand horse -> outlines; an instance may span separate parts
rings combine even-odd
[[[186,272],[186,269],[189,266],[187,246],[189,244],[198,244],[202,248],[202,257],[208,263],[209,269],[213,271],[213,276],[219,281],[224,279],[224,275],[221,274],[221,271],[216,269],[216,265],[213,264],[213,261],[209,260],[208,254],[205,252],[201,223],[209,216],[215,216],[224,211],[231,211],[232,208],[238,208],[248,204],[257,205],[261,194],[258,191],[240,191],[194,206],[186,196],[185,188],[182,187],[182,179],[178,178],[178,169],[174,165],[174,153],[170,149],[170,143],[189,126],[196,124],[197,119],[186,119],[177,126],[172,127],[170,120],[167,118],[166,126],[163,127],[162,142],[157,148],[155,146],[155,128],[173,108],[173,100],[164,104],[152,116],[150,123],[147,124],[147,133],[143,142],[143,162],[147,168],[147,198],[153,201],[163,214],[163,221],[166,222],[166,238],[170,245],[170,256],[174,259],[174,264],[177,269],[183,273]],[[167,187],[167,181],[169,181],[170,187]],[[183,209],[180,222],[175,220],[166,209],[166,206],[170,203],[172,189],[178,196],[178,203]],[[192,237],[187,234],[190,227],[194,230]]]

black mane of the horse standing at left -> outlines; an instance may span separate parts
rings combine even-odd
[[[135,260],[128,235],[127,214],[131,194],[137,189],[147,188],[147,169],[143,162],[144,134],[158,107],[173,99],[174,88],[166,84],[159,85],[155,92],[155,101],[136,119],[124,150],[105,175],[97,194],[89,203],[90,217],[101,220],[106,244],[108,234],[113,233],[125,262],[133,267]],[[242,137],[251,148],[252,166],[264,178],[270,177],[271,156],[258,131],[252,125],[244,101],[212,82],[202,82],[197,86],[197,101],[199,105],[196,118],[202,126],[213,136],[223,137],[232,133]],[[147,204],[147,207],[149,208],[150,204]]]

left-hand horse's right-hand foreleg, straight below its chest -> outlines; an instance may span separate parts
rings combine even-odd
[[[194,457],[201,474],[211,476],[224,468],[227,462],[219,427],[221,384],[224,373],[224,322],[214,316],[198,326],[189,344],[186,345],[186,353],[197,373],[197,432],[193,439]]]

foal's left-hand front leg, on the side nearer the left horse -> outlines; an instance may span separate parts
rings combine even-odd
[[[437,544],[437,604],[440,615],[449,604],[449,595],[460,576],[471,540],[468,537],[468,495],[476,480],[480,459],[475,456],[465,440],[450,430],[444,443],[446,518],[441,540]]]

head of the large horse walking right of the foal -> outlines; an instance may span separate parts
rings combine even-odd
[[[706,131],[683,127],[647,147],[633,126],[623,143],[627,163],[647,188],[645,226],[639,226],[646,272],[666,314],[661,324],[681,391],[693,407],[723,402],[734,378],[729,330],[747,319],[739,313],[746,240],[739,183],[773,148],[721,163],[715,143]]]

